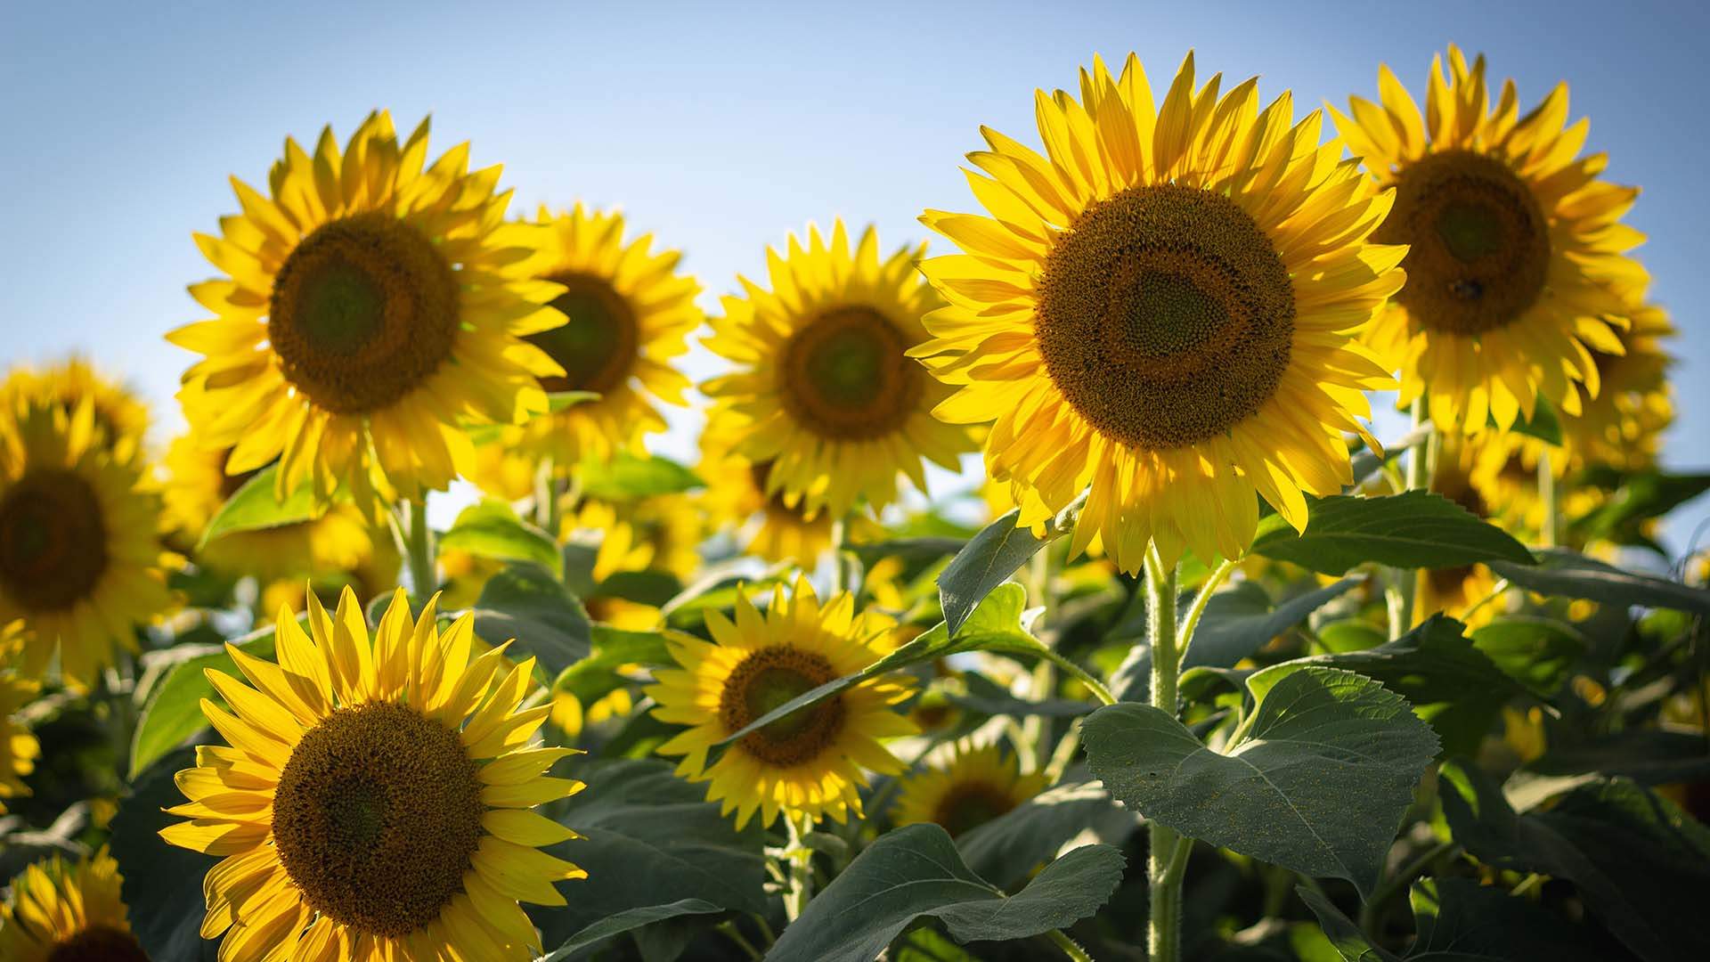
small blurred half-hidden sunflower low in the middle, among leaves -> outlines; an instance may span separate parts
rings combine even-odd
[[[896,793],[898,825],[934,822],[954,839],[1045,791],[1043,772],[1021,774],[1016,755],[997,745],[956,743],[929,767],[903,775]]]

